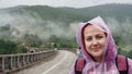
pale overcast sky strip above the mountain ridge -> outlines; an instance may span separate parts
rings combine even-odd
[[[51,7],[72,7],[84,8],[105,3],[131,3],[132,0],[0,0],[0,8],[15,5],[51,5]]]

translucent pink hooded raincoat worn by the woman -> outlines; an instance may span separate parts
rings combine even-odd
[[[101,63],[95,62],[92,58],[87,53],[82,45],[81,29],[87,23],[92,24],[94,26],[98,27],[107,34],[107,44]],[[86,59],[82,74],[119,74],[119,70],[116,65],[117,47],[112,38],[111,32],[100,16],[97,16],[86,23],[80,23],[76,34],[76,39],[77,44],[81,47],[82,57]],[[128,63],[129,74],[132,74],[132,60],[128,59]],[[75,74],[75,64],[72,66],[69,74]]]

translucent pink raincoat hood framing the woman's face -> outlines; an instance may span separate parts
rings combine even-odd
[[[76,34],[76,39],[77,39],[77,44],[81,47],[82,49],[82,53],[84,53],[84,58],[87,61],[94,61],[90,55],[87,53],[84,45],[82,45],[82,40],[81,40],[81,30],[82,27],[87,24],[92,24],[94,26],[98,27],[99,29],[101,29],[102,32],[105,32],[107,34],[107,44],[106,44],[106,51],[103,52],[103,60],[102,61],[113,61],[116,59],[117,55],[117,47],[116,44],[113,41],[111,32],[109,30],[109,28],[107,27],[106,23],[103,22],[103,20],[98,16],[95,17],[86,23],[80,23],[77,34]]]

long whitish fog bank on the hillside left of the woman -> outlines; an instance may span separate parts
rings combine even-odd
[[[13,30],[18,29],[20,34],[34,34],[41,38],[48,38],[51,35],[74,37],[74,26],[76,25],[75,23],[65,24],[63,22],[43,21],[41,16],[33,12],[31,14],[30,11],[24,11],[21,14],[0,12],[0,26],[7,24],[11,25]],[[64,27],[64,25],[67,25],[67,27]],[[14,32],[13,35],[15,35]]]

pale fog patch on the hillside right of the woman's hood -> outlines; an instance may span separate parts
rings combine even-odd
[[[116,18],[107,17],[107,24],[111,29],[112,35],[120,36],[124,44],[132,41],[132,22],[125,18],[123,22],[118,22]]]

